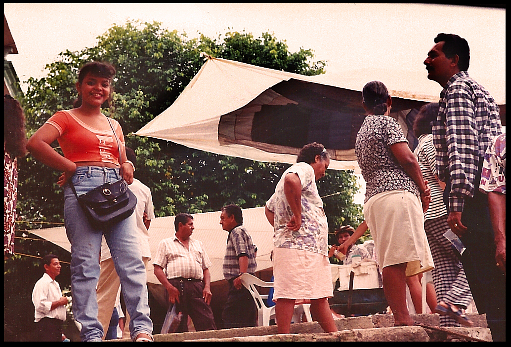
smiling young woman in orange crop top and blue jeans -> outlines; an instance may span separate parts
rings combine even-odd
[[[68,184],[72,180],[77,194],[81,195],[107,182],[120,179],[128,184],[133,182],[134,166],[126,158],[122,129],[117,121],[101,112],[102,106],[109,106],[114,74],[115,68],[109,63],[85,64],[76,83],[76,108],[55,113],[30,138],[27,148],[45,165],[63,171],[57,183],[64,187],[64,224],[71,242],[73,313],[82,324],[81,340],[101,341],[104,336],[96,298],[100,274],[98,260],[104,235],[131,316],[130,336],[134,341],[151,341],[153,326],[149,317],[146,269],[137,238],[135,215],[108,230],[97,229],[90,225]],[[55,140],[64,156],[51,147]],[[122,146],[121,158],[118,143]]]

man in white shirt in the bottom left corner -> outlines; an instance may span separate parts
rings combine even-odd
[[[32,291],[38,341],[62,342],[62,324],[66,319],[67,298],[62,296],[55,277],[60,274],[60,261],[54,254],[42,258],[44,275]]]

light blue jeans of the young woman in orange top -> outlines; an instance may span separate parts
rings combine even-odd
[[[119,169],[80,166],[71,178],[78,195],[107,182],[120,180]],[[146,269],[142,261],[136,231],[136,216],[132,214],[106,231],[89,224],[75,194],[68,184],[64,188],[64,222],[71,242],[71,290],[73,314],[82,325],[82,341],[100,341],[103,327],[98,320],[96,285],[100,274],[101,238],[105,235],[115,270],[121,280],[126,309],[131,321],[131,339],[140,333],[151,335]]]

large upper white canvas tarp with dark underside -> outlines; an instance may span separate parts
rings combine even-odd
[[[425,69],[367,69],[307,77],[208,57],[172,106],[136,135],[285,163],[295,163],[299,148],[317,141],[332,155],[330,168],[358,170],[354,144],[364,118],[364,84],[379,80],[387,85],[393,98],[391,115],[407,134],[409,110],[438,101],[442,90],[426,75]],[[504,105],[505,115],[505,81],[479,82]]]

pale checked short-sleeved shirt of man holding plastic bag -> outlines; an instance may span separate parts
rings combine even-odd
[[[153,264],[164,269],[168,279],[183,277],[202,280],[203,270],[211,266],[211,261],[201,241],[189,238],[187,249],[174,236],[160,241]]]

